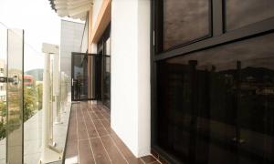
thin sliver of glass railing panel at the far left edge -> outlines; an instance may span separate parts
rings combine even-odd
[[[7,29],[0,24],[0,77],[6,77]],[[6,158],[6,83],[0,83],[0,164]]]

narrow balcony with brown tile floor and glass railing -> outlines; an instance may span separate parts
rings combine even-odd
[[[58,46],[46,44],[42,54],[24,42],[23,30],[0,27],[1,34],[8,31],[0,48],[1,77],[6,77],[0,83],[0,164],[161,163],[151,155],[136,158],[111,129],[110,99],[70,101],[78,92],[71,96],[70,77],[58,71]]]

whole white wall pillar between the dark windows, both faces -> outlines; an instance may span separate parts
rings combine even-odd
[[[112,0],[111,128],[136,157],[150,154],[150,0]]]

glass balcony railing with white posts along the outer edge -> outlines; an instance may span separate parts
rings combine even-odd
[[[70,93],[58,60],[27,44],[23,30],[0,24],[0,164],[62,160]]]

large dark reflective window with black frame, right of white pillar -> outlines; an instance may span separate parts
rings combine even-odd
[[[153,1],[152,149],[164,159],[274,163],[273,3],[255,1]]]

